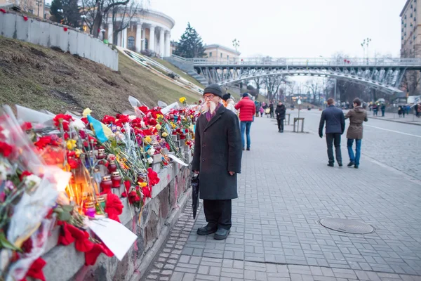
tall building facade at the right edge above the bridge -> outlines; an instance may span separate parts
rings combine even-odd
[[[421,0],[407,0],[401,11],[401,58],[421,58]]]

